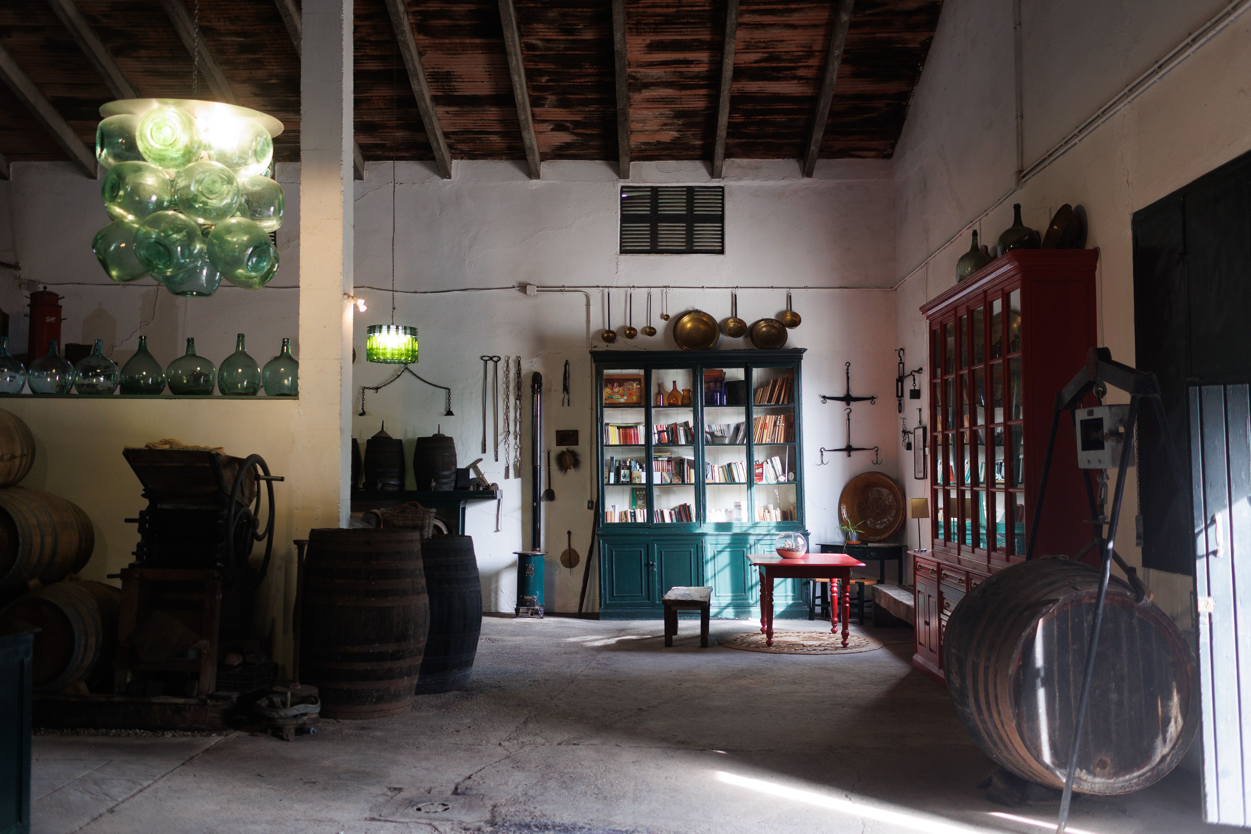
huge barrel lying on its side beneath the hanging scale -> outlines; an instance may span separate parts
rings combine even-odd
[[[1012,773],[1062,788],[1098,570],[1035,559],[971,590],[947,623],[947,689],[965,728]],[[1125,794],[1167,774],[1198,721],[1195,656],[1177,625],[1113,576],[1073,789]]]

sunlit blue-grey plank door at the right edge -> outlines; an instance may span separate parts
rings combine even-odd
[[[1251,399],[1190,389],[1203,818],[1251,825]],[[1246,561],[1247,564],[1242,564]],[[1247,675],[1241,674],[1242,660]]]

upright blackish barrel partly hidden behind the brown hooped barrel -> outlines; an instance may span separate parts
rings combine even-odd
[[[417,694],[427,695],[469,685],[482,633],[482,581],[467,535],[423,540],[422,563],[430,593],[430,638]]]

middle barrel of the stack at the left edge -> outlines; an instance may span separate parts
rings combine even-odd
[[[75,504],[38,489],[0,489],[0,591],[60,581],[94,548],[91,519]]]

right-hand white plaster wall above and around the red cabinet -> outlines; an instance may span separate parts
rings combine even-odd
[[[1225,5],[1026,1],[1025,165]],[[924,350],[918,308],[955,283],[956,259],[968,249],[967,235],[945,241],[1016,185],[1011,14],[1011,4],[995,0],[943,5],[896,151],[896,274],[902,279],[896,326],[912,356]],[[1248,71],[1251,15],[1243,14],[980,224],[983,240],[993,244],[1012,224],[1012,203],[1022,204],[1025,223],[1037,229],[1061,204],[1083,205],[1087,246],[1101,250],[1100,341],[1121,361],[1133,363],[1132,213],[1251,149]],[[1137,513],[1133,474],[1122,531],[1133,530]],[[1140,559],[1128,533],[1117,549],[1131,561]],[[1156,600],[1188,624],[1191,579],[1147,573]]]

